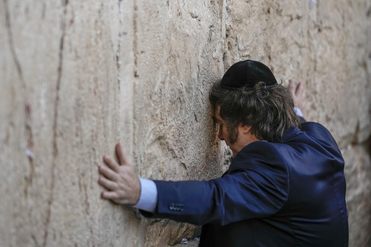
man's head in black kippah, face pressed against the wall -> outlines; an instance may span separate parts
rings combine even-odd
[[[230,69],[233,69],[232,67]],[[250,73],[246,70],[249,70],[250,67],[245,67],[243,73],[249,75]],[[255,67],[251,70],[254,69]],[[268,74],[269,72],[270,70],[267,71]],[[271,78],[262,77],[265,80]],[[235,88],[235,80],[231,81],[234,84],[233,89],[226,88],[228,81],[225,80],[224,85],[214,84],[209,98],[214,108],[214,121],[219,124],[220,128],[218,137],[220,140],[226,141],[234,156],[253,141],[282,141],[285,130],[290,126],[299,126],[300,120],[293,109],[292,95],[282,85],[282,81],[280,84],[277,84],[276,81],[268,81],[267,83],[265,81],[250,81],[249,83],[247,77],[246,85],[239,88]],[[275,83],[274,86],[271,86],[273,83]],[[239,85],[237,84],[237,86]],[[267,88],[267,86],[271,87]]]

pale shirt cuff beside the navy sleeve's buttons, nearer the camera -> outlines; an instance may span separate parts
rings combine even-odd
[[[146,178],[139,178],[140,197],[137,204],[132,207],[154,213],[157,205],[157,186],[154,181]]]

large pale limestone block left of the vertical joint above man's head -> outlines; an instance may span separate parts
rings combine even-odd
[[[225,145],[207,97],[223,73],[223,4],[0,4],[2,245],[196,237],[200,227],[101,200],[98,166],[121,141],[142,177],[222,174]]]

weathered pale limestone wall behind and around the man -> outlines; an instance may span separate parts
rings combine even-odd
[[[371,2],[0,1],[1,246],[168,246],[199,227],[101,200],[122,143],[139,176],[219,177],[207,100],[253,59],[302,80],[346,161],[349,246],[370,246]]]

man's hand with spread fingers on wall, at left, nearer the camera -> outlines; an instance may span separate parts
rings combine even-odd
[[[108,191],[103,191],[101,197],[118,204],[137,204],[140,197],[140,182],[134,168],[128,163],[122,152],[120,143],[116,144],[116,155],[119,163],[111,157],[104,156],[107,166],[99,166],[98,183]]]

